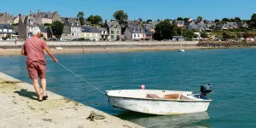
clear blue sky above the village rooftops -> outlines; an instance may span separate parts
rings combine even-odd
[[[3,0],[1,0],[3,1]],[[28,15],[29,11],[55,11],[61,16],[74,17],[84,11],[84,17],[101,15],[103,20],[113,19],[116,10],[124,9],[129,20],[165,20],[178,16],[195,19],[198,15],[207,20],[224,17],[250,19],[256,13],[256,0],[4,0],[0,12]],[[6,6],[5,6],[6,5]]]

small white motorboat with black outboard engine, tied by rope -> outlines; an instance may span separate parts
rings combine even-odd
[[[179,90],[107,90],[115,108],[157,115],[205,112],[212,102],[212,85],[201,85],[201,94]]]

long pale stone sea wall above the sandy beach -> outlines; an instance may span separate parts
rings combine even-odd
[[[24,41],[0,41],[0,48],[2,49],[20,49]],[[107,42],[47,42],[50,48],[129,48],[129,47],[166,47],[183,45],[197,45],[198,41],[107,41]]]

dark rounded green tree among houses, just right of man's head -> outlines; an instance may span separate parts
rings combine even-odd
[[[59,20],[55,20],[51,25],[51,30],[56,38],[60,39],[63,33],[64,24]]]

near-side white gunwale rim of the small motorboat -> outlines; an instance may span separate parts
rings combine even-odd
[[[125,98],[125,99],[137,99],[143,101],[164,101],[164,102],[212,102],[212,99],[209,100],[172,100],[172,99],[158,99],[158,98],[135,98],[135,97],[125,97],[125,96],[109,96],[108,97],[115,97],[115,98]]]

